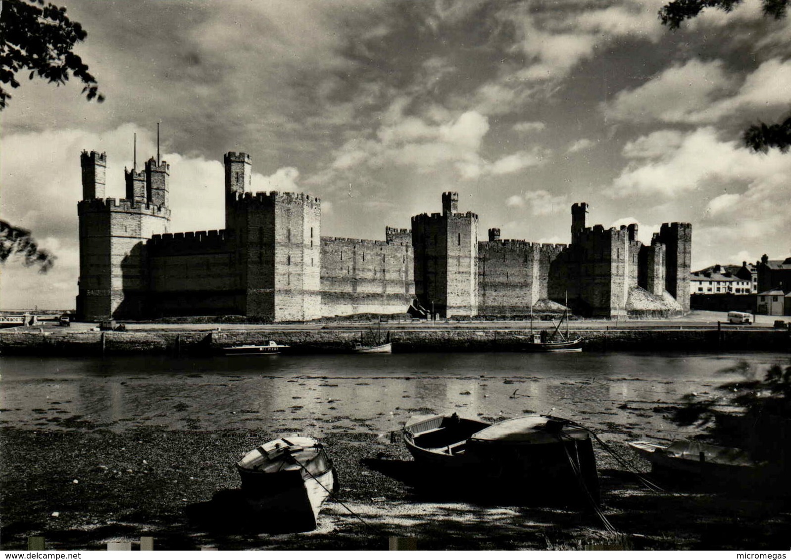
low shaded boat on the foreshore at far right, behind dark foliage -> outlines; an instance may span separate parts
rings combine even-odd
[[[627,445],[649,460],[653,471],[688,475],[710,482],[746,482],[766,467],[766,463],[752,460],[743,449],[698,441],[674,441],[670,445],[632,441]]]

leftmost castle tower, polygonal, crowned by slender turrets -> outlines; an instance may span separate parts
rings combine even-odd
[[[94,153],[81,156],[84,199],[78,203],[78,316],[86,320],[144,317],[149,291],[145,242],[155,233],[165,232],[170,210],[146,200],[146,173],[134,169],[126,172],[127,199],[101,198],[107,159],[102,154],[104,165],[97,165]],[[92,173],[86,172],[86,163],[90,168],[92,161],[93,187]]]

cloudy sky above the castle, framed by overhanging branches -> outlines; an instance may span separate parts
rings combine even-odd
[[[325,236],[383,239],[457,191],[482,238],[570,241],[589,225],[693,227],[692,269],[791,255],[791,153],[740,134],[791,104],[791,19],[758,0],[676,32],[653,0],[62,0],[88,32],[81,85],[21,79],[0,113],[0,218],[57,256],[13,259],[0,308],[74,308],[79,155],[170,164],[170,231],[223,228],[222,156],[252,191],[322,199]]]

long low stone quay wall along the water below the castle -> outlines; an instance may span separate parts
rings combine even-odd
[[[389,333],[395,352],[518,351],[519,335],[528,331],[475,328],[399,329]],[[267,344],[276,340],[297,354],[343,352],[366,335],[365,328],[282,330],[277,328],[221,331],[85,331],[6,330],[0,333],[3,355],[101,356],[116,354],[221,354],[224,346]],[[574,330],[585,351],[720,350],[791,351],[786,329],[755,327],[715,329],[650,328]]]

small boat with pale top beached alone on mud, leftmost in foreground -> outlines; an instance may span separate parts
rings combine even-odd
[[[242,492],[263,521],[312,531],[338,479],[327,450],[312,437],[286,436],[248,452],[237,464]]]

